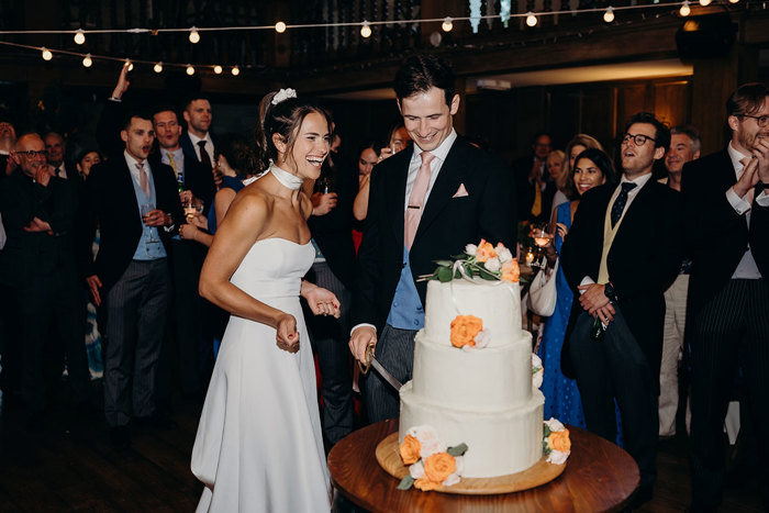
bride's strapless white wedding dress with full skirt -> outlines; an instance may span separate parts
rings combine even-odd
[[[198,511],[328,512],[312,348],[299,304],[312,244],[257,241],[231,282],[297,319],[299,352],[261,323],[231,316],[192,448]]]

